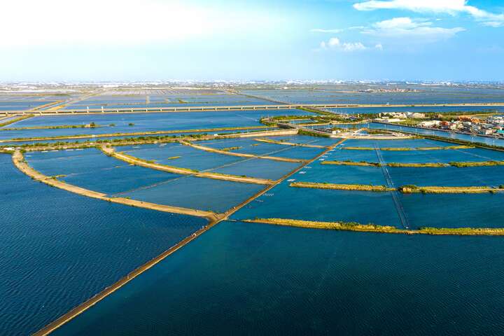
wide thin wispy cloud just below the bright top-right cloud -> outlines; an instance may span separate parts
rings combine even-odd
[[[464,30],[461,27],[433,27],[433,22],[427,20],[393,18],[376,22],[372,27],[364,29],[362,32],[381,38],[410,38],[411,42],[435,42],[451,38]]]

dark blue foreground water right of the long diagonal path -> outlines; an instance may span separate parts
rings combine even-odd
[[[501,335],[504,241],[224,222],[55,335]]]

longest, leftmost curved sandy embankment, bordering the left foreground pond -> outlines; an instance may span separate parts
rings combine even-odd
[[[35,169],[31,168],[27,164],[25,157],[22,155],[22,153],[20,151],[15,151],[13,153],[12,158],[13,158],[13,163],[14,163],[15,167],[17,167],[21,172],[25,173],[27,176],[31,177],[31,179],[45,183],[48,186],[52,186],[52,187],[56,187],[56,188],[59,188],[62,190],[69,191],[71,193],[75,193],[78,195],[83,195],[83,196],[87,196],[87,197],[91,197],[91,198],[96,198],[98,200],[104,200],[107,202],[125,204],[125,205],[129,205],[130,207],[138,207],[138,208],[151,209],[151,210],[163,211],[163,212],[171,212],[174,214],[184,214],[184,215],[189,215],[189,216],[205,217],[205,218],[208,218],[209,221],[215,221],[216,218],[219,218],[218,214],[211,212],[211,211],[201,211],[201,210],[197,210],[197,209],[172,207],[169,205],[155,204],[155,203],[150,203],[150,202],[141,202],[141,201],[137,201],[137,200],[130,200],[130,199],[123,198],[123,197],[108,197],[104,193],[98,193],[93,190],[88,190],[85,188],[80,188],[78,186],[73,186],[72,184],[57,180],[56,177],[46,176],[46,175],[42,174],[41,172],[37,172]]]

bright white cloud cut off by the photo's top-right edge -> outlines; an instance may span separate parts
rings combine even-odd
[[[466,0],[370,0],[354,3],[357,10],[399,9],[417,13],[468,13],[473,18],[491,27],[504,25],[504,14],[489,13],[475,6],[469,6]]]

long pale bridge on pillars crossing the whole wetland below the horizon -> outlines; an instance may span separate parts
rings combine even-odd
[[[183,104],[181,104],[183,105]],[[155,113],[155,112],[202,112],[202,111],[249,111],[249,110],[280,110],[280,109],[360,109],[379,107],[446,107],[446,106],[481,106],[493,107],[504,106],[499,103],[451,103],[451,104],[262,104],[262,105],[233,105],[233,106],[148,106],[148,107],[105,107],[86,109],[69,109],[65,106],[57,110],[25,110],[25,111],[1,111],[6,115],[36,114],[39,116],[54,116],[60,114],[86,114],[86,113]]]

